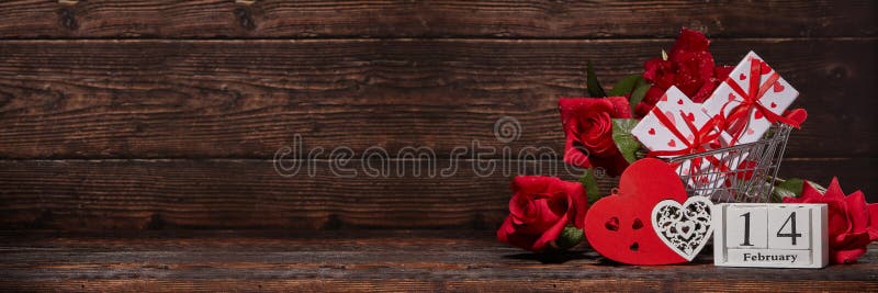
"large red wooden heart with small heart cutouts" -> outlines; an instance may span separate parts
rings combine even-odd
[[[663,200],[686,201],[674,168],[641,159],[619,179],[619,192],[595,202],[585,216],[585,236],[601,256],[629,264],[672,264],[686,259],[671,250],[652,227],[652,209]]]

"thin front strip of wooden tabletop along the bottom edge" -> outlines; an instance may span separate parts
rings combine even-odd
[[[552,268],[545,268],[551,270]],[[767,271],[766,274],[774,273]],[[278,273],[279,275],[284,275]],[[137,274],[133,274],[137,275]],[[796,280],[780,283],[777,281],[754,280],[632,280],[621,279],[534,279],[522,277],[522,280],[454,280],[436,278],[415,279],[369,279],[369,280],[324,280],[283,278],[269,280],[249,280],[227,278],[227,280],[150,280],[137,278],[119,279],[48,279],[38,282],[24,280],[0,280],[0,286],[15,291],[112,291],[112,292],[181,292],[181,291],[259,291],[259,292],[518,292],[518,291],[611,291],[611,292],[653,292],[686,291],[701,292],[722,289],[723,292],[871,292],[878,285],[870,281],[814,281]]]

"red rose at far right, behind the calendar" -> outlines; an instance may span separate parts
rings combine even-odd
[[[830,260],[853,262],[866,253],[869,243],[878,240],[878,204],[867,204],[862,191],[845,196],[833,178],[826,193],[804,183],[802,195],[785,198],[785,203],[825,203],[829,207]]]

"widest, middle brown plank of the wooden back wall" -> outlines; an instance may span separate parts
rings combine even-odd
[[[757,50],[811,117],[787,157],[876,155],[875,41],[720,40],[718,59]],[[293,144],[361,154],[406,146],[549,147],[559,97],[611,81],[669,41],[0,42],[0,158],[271,158]],[[319,53],[319,54],[315,54]],[[509,144],[493,129],[516,117]],[[305,154],[300,154],[305,157]]]

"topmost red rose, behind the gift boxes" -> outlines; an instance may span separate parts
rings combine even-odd
[[[720,81],[732,71],[731,66],[716,67],[713,55],[708,50],[710,41],[693,30],[683,29],[677,42],[667,54],[667,60],[654,58],[648,60],[643,67],[643,78],[652,82],[652,87],[637,105],[639,115],[646,115],[662,98],[662,94],[676,86],[680,91],[690,97],[696,103],[703,102]]]

